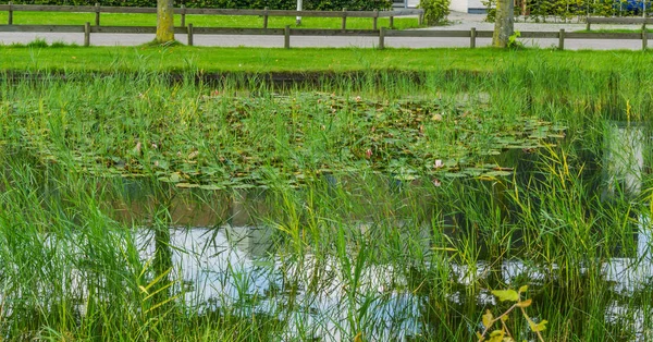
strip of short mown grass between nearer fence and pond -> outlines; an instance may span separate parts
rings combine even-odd
[[[65,72],[417,72],[567,68],[587,72],[646,71],[653,54],[641,51],[556,51],[526,49],[260,49],[208,47],[5,46],[0,69]]]

